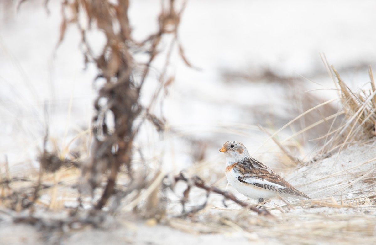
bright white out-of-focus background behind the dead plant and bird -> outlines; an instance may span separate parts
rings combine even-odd
[[[0,163],[14,171],[38,166],[46,125],[57,148],[90,127],[96,96],[96,67],[85,68],[76,26],[68,26],[61,45],[61,1],[0,2]],[[176,1],[181,6],[181,1]],[[161,3],[130,1],[133,38],[157,29]],[[187,67],[173,54],[174,84],[162,107],[168,128],[163,138],[141,134],[146,157],[163,145],[164,168],[179,171],[199,161],[223,161],[218,149],[227,140],[243,142],[268,165],[278,149],[257,125],[274,132],[305,110],[338,96],[320,53],[354,90],[367,86],[368,67],[376,67],[375,1],[218,1],[188,0],[179,29]],[[89,36],[94,49],[103,37]],[[166,49],[162,42],[161,50]],[[148,80],[152,91],[161,62]],[[151,91],[144,91],[147,95]],[[147,96],[146,96],[147,97]],[[323,108],[279,135],[287,138],[338,110]],[[309,159],[324,134],[322,127],[292,142],[291,150]],[[81,140],[81,141],[80,141]],[[83,139],[73,142],[78,147]],[[76,145],[76,146],[75,146]],[[158,147],[154,147],[158,146]],[[157,152],[156,152],[157,151]]]

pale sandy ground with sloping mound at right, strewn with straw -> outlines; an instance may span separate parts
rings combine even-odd
[[[70,219],[64,210],[38,210],[34,216],[40,222],[34,225],[12,221],[27,217],[27,213],[2,210],[0,244],[373,244],[374,156],[376,148],[368,142],[298,167],[286,178],[315,199],[288,199],[290,206],[273,200],[267,204],[272,217],[257,215],[236,204],[225,208],[216,194],[211,194],[206,208],[188,218],[174,218],[181,206],[170,201],[168,205],[176,209],[167,209],[160,223],[120,212],[115,216],[101,213],[96,227],[77,223],[59,228],[56,224]],[[177,196],[180,189],[175,190]],[[195,195],[202,193],[196,190],[190,197],[194,199]],[[373,200],[366,198],[370,195]],[[194,199],[192,203],[199,201]],[[79,212],[85,216],[86,211]]]

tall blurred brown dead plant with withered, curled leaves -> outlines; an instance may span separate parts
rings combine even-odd
[[[164,3],[162,2],[162,11],[158,18],[157,32],[142,42],[136,42],[131,36],[127,15],[128,1],[114,3],[100,0],[90,2],[72,0],[63,2],[63,21],[59,42],[64,39],[67,25],[76,24],[82,35],[82,45],[85,47],[85,62],[94,62],[100,71],[97,79],[105,79],[105,84],[99,89],[98,97],[94,102],[96,114],[93,118],[91,154],[89,159],[82,164],[80,181],[81,194],[91,193],[94,196],[94,191],[103,183],[103,175],[107,176],[103,192],[95,204],[97,210],[105,207],[115,192],[124,198],[134,191],[140,194],[147,189],[150,196],[145,205],[146,213],[153,213],[159,202],[158,186],[161,177],[158,178],[158,176],[161,173],[158,170],[154,173],[136,172],[137,170],[132,167],[132,149],[133,140],[145,121],[152,123],[157,131],[164,130],[165,119],[153,114],[152,107],[163,97],[173,81],[173,77],[167,73],[167,65],[175,44],[178,46],[182,59],[190,65],[183,55],[177,35],[184,4],[180,10],[176,10],[173,0]],[[69,12],[69,18],[68,14],[64,14],[66,12]],[[86,25],[82,25],[79,21],[82,15],[88,21]],[[86,35],[92,28],[102,31],[106,37],[106,44],[99,55],[94,55],[90,40]],[[173,35],[173,39],[170,50],[167,50],[165,56],[165,67],[159,75],[159,86],[152,95],[149,105],[142,105],[140,96],[144,82],[150,73],[153,61],[162,54],[159,44],[169,34]],[[133,59],[133,55],[137,52],[142,52],[148,57],[146,63],[141,64]],[[108,125],[109,114],[111,114],[113,127]],[[126,169],[122,169],[122,166]],[[123,191],[116,190],[120,172],[126,173],[129,181],[125,184],[126,190]],[[159,180],[159,183],[153,184],[155,178]],[[154,189],[150,189],[150,186]],[[114,203],[120,204],[119,201]],[[112,212],[116,209],[117,207],[112,205]]]

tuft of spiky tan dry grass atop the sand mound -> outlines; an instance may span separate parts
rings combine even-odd
[[[339,97],[322,101],[309,94],[306,94],[304,99],[293,96],[289,100],[295,103],[294,108],[300,108],[300,114],[277,131],[273,132],[273,130],[261,127],[262,131],[270,135],[265,143],[273,140],[283,152],[280,160],[285,162],[285,166],[295,166],[296,163],[302,163],[304,160],[316,161],[341,151],[352,143],[372,141],[375,136],[376,86],[371,67],[369,70],[370,88],[354,92],[325,59],[324,64],[338,88]],[[276,77],[273,76],[273,79]],[[300,89],[298,93],[303,92]],[[339,110],[333,105],[336,100],[341,101]],[[296,114],[296,112],[298,111],[289,114]],[[293,133],[283,138],[283,132],[288,128],[292,129]],[[305,142],[311,142],[310,148],[316,149],[315,157],[306,158]]]

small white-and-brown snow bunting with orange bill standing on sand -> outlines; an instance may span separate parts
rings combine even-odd
[[[253,159],[240,142],[228,141],[219,150],[226,154],[227,181],[241,194],[264,202],[276,196],[311,199],[270,168]]]

